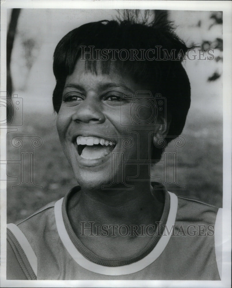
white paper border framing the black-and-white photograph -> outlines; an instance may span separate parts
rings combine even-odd
[[[1,0],[1,88],[6,91],[7,8],[167,9],[223,11],[223,266],[221,281],[16,281],[6,280],[6,181],[1,181],[1,287],[231,287],[231,1]],[[3,112],[4,113],[4,112]],[[3,115],[4,117],[4,115]],[[6,131],[5,131],[6,132]],[[1,158],[5,155],[1,129]],[[5,174],[6,171],[1,171]]]

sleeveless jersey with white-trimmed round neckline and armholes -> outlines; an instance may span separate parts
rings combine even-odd
[[[214,243],[218,208],[164,188],[164,210],[151,240],[132,257],[108,259],[85,247],[72,229],[66,207],[78,190],[7,224],[7,279],[220,280]]]

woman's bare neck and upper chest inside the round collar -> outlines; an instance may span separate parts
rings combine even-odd
[[[117,258],[139,252],[151,239],[147,235],[137,237],[141,235],[144,229],[142,227],[156,226],[155,222],[160,221],[164,194],[160,192],[161,195],[152,195],[148,181],[135,182],[132,185],[134,190],[93,191],[82,188],[68,202],[68,218],[75,234],[87,248],[99,256]],[[127,232],[124,229],[120,234],[121,225],[124,228],[127,226],[130,231],[123,237],[122,234]],[[138,227],[137,235],[134,232],[131,234],[132,226]],[[103,227],[108,234],[102,234]]]

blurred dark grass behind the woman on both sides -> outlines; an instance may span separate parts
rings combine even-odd
[[[63,197],[74,185],[72,170],[63,154],[52,113],[24,112],[24,124],[7,137],[7,159],[20,159],[20,149],[11,145],[14,136],[39,136],[43,145],[34,149],[34,183],[41,190],[13,190],[20,183],[20,165],[9,164],[7,174],[18,181],[7,181],[7,222],[27,217],[41,206]],[[182,136],[186,145],[178,149],[178,183],[186,190],[172,191],[208,204],[222,206],[222,121],[192,110]],[[152,175],[162,177],[160,165]],[[168,186],[167,186],[168,187]]]

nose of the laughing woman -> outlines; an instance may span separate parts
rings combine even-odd
[[[93,98],[87,97],[80,105],[76,106],[72,120],[74,122],[101,124],[105,122],[105,116],[101,111],[101,104]]]

